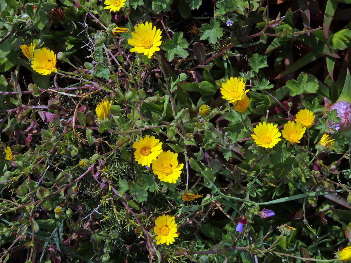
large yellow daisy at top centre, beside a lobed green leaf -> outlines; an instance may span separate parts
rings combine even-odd
[[[133,46],[130,52],[144,53],[150,59],[153,53],[159,51],[161,45],[161,31],[152,27],[152,23],[145,22],[134,26],[135,33],[131,32],[132,38],[128,38],[128,44]]]

